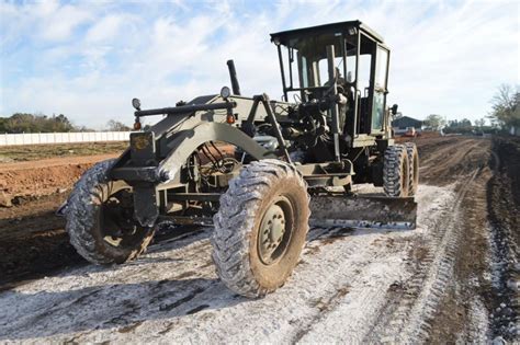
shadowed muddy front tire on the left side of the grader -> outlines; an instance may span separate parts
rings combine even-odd
[[[128,205],[128,189],[116,191],[108,177],[114,160],[88,170],[67,202],[66,230],[70,243],[93,264],[124,263],[145,251],[154,231],[137,226]],[[129,206],[132,207],[132,206]]]

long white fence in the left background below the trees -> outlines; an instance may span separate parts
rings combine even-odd
[[[93,141],[127,141],[131,131],[0,134],[0,146]]]

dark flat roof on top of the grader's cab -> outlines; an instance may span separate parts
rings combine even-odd
[[[377,34],[375,31],[370,28],[366,24],[363,24],[361,21],[348,21],[348,22],[339,22],[339,23],[330,23],[317,26],[309,26],[303,28],[295,28],[295,30],[287,30],[279,33],[271,34],[271,42],[275,38],[283,45],[289,44],[289,39],[298,36],[298,35],[307,35],[307,34],[316,34],[316,33],[347,33],[349,28],[358,28],[359,31],[365,33],[372,39],[384,43],[383,37]]]

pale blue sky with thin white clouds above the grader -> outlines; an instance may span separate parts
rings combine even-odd
[[[1,1],[1,0],[0,0]],[[2,1],[0,116],[65,114],[102,128],[230,85],[282,94],[273,32],[361,20],[392,49],[388,104],[403,115],[486,116],[520,84],[520,1]]]

